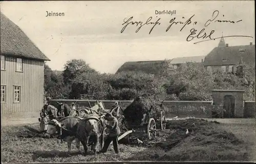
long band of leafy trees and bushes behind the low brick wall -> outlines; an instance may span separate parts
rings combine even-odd
[[[45,91],[53,98],[79,99],[80,94],[98,99],[132,100],[149,94],[161,100],[211,100],[212,89],[245,90],[246,100],[255,99],[255,66],[240,63],[236,73],[209,72],[203,65],[187,63],[178,71],[168,62],[157,74],[123,71],[100,74],[82,60],[71,60],[62,74],[45,65]]]

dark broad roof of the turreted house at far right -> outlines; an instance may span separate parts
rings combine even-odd
[[[255,45],[215,47],[204,59],[204,66],[236,65],[240,59],[249,65],[255,65]]]

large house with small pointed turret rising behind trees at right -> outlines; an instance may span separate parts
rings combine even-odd
[[[212,49],[204,60],[207,70],[221,69],[224,72],[235,72],[240,60],[251,66],[255,66],[255,45],[228,46],[222,37],[218,47]]]

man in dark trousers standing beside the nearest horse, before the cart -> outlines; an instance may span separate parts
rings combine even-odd
[[[101,150],[101,153],[105,153],[106,151],[108,151],[110,143],[111,143],[111,141],[113,141],[113,147],[114,147],[115,153],[118,154],[119,149],[118,149],[117,136],[120,134],[120,129],[118,127],[117,118],[115,118],[111,113],[107,113],[105,115],[105,119],[109,121],[109,125],[106,125],[106,127],[108,127],[110,129],[110,133],[108,135],[108,138],[106,138],[106,141]]]

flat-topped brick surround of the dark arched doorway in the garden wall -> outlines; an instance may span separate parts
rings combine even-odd
[[[243,107],[243,92],[212,92],[212,97],[214,98],[215,104],[218,106],[224,104],[224,96],[232,95],[235,98],[235,109],[234,116],[236,118],[243,118],[244,107]]]

